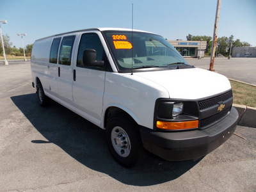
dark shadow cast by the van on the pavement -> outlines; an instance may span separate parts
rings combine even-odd
[[[147,154],[145,162],[134,168],[120,166],[111,157],[104,130],[52,101],[51,106],[39,106],[35,93],[11,97],[14,104],[45,137],[33,140],[35,145],[54,143],[84,166],[106,173],[114,179],[133,186],[152,186],[177,179],[198,161],[168,162]]]

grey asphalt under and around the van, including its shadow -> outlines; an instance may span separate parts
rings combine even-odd
[[[148,154],[132,169],[104,131],[56,102],[41,108],[29,62],[0,65],[0,191],[256,191],[256,129],[237,126],[197,161]]]

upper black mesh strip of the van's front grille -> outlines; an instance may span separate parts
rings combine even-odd
[[[200,100],[198,101],[198,106],[200,110],[210,108],[211,106],[218,104],[218,102],[230,99],[231,97],[233,97],[232,91],[229,91],[210,99]]]

